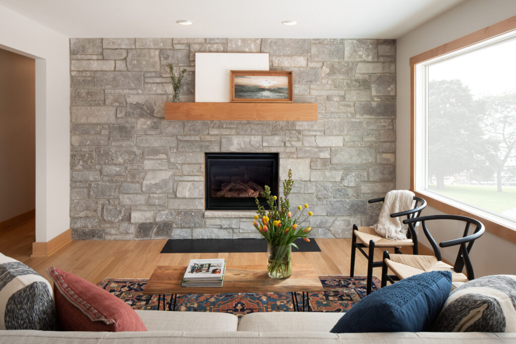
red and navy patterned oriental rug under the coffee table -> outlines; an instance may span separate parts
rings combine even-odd
[[[310,293],[310,309],[313,312],[345,312],[365,297],[365,276],[319,276],[319,279],[324,291]],[[115,294],[134,309],[156,310],[158,295],[142,294],[147,281],[104,279],[99,286]],[[379,286],[380,280],[373,276],[373,290],[378,289]],[[297,293],[299,308],[302,307],[301,294]],[[167,302],[170,297],[170,295],[165,296]],[[294,312],[294,304],[289,292],[178,294],[175,310],[224,312],[241,318],[254,312]]]

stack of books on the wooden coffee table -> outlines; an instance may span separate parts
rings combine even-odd
[[[190,259],[182,287],[222,287],[225,261],[221,259]]]

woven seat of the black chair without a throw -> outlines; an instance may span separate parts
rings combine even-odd
[[[469,281],[463,273],[455,272],[451,265],[437,260],[435,256],[422,256],[412,254],[390,254],[390,259],[385,259],[385,264],[400,280],[428,271],[449,271],[453,282]]]

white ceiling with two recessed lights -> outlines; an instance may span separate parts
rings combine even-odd
[[[0,0],[67,37],[397,39],[465,0]],[[183,26],[176,20],[190,20]],[[284,20],[297,20],[286,26]]]

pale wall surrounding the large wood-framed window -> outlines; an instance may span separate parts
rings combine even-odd
[[[476,30],[500,22],[516,14],[516,1],[469,0],[439,17],[425,23],[397,40],[396,52],[396,188],[408,189],[410,183],[410,68],[409,58],[446,42],[471,34]],[[434,208],[426,208],[424,215],[442,214]],[[450,233],[437,231],[436,240],[443,241],[462,235],[459,228]],[[432,232],[435,233],[435,232]],[[460,234],[459,234],[460,233]],[[428,247],[428,241],[420,231],[418,239]],[[424,238],[424,239],[423,239]],[[458,247],[443,250],[443,258],[455,262]],[[475,276],[489,274],[516,274],[516,244],[491,233],[475,241],[472,250]]]

